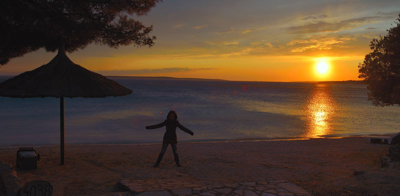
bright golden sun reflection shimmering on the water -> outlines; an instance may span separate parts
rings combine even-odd
[[[321,137],[333,131],[332,121],[338,108],[329,84],[315,84],[305,105],[306,131],[304,137]]]

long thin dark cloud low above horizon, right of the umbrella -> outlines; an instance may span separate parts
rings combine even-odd
[[[186,72],[186,71],[205,71],[214,70],[217,68],[188,68],[188,67],[165,67],[156,69],[127,69],[127,70],[98,70],[104,75],[134,75],[147,73],[171,73],[171,72]]]

